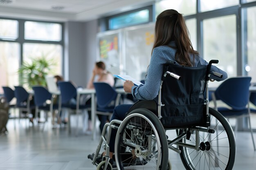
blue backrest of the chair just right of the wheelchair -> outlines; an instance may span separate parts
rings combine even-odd
[[[217,100],[222,100],[231,108],[242,110],[248,104],[251,77],[226,79],[215,91]]]

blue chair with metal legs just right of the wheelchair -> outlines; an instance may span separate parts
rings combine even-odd
[[[225,80],[213,93],[213,102],[215,109],[217,109],[226,118],[236,118],[236,125],[238,118],[248,117],[249,128],[252,135],[252,142],[254,145],[254,138],[251,128],[251,120],[248,108],[249,102],[249,86],[251,77],[233,77]],[[216,100],[221,100],[231,108],[218,107]],[[235,127],[235,135],[238,127]]]

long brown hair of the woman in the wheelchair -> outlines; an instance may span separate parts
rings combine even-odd
[[[174,41],[176,46],[170,46]],[[157,16],[155,23],[155,42],[153,49],[158,46],[168,45],[177,49],[175,60],[184,66],[193,66],[195,54],[198,52],[193,49],[189,38],[189,31],[186,27],[182,14],[174,9],[163,11]],[[153,50],[152,50],[153,52]],[[193,54],[193,63],[190,61],[190,55]]]

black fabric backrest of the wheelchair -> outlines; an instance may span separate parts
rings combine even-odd
[[[206,126],[205,87],[207,66],[187,67],[168,62],[166,71],[181,76],[163,76],[161,122],[164,128]]]

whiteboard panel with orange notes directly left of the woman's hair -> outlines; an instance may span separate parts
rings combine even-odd
[[[137,80],[145,79],[154,43],[154,24],[124,30],[126,74]]]

